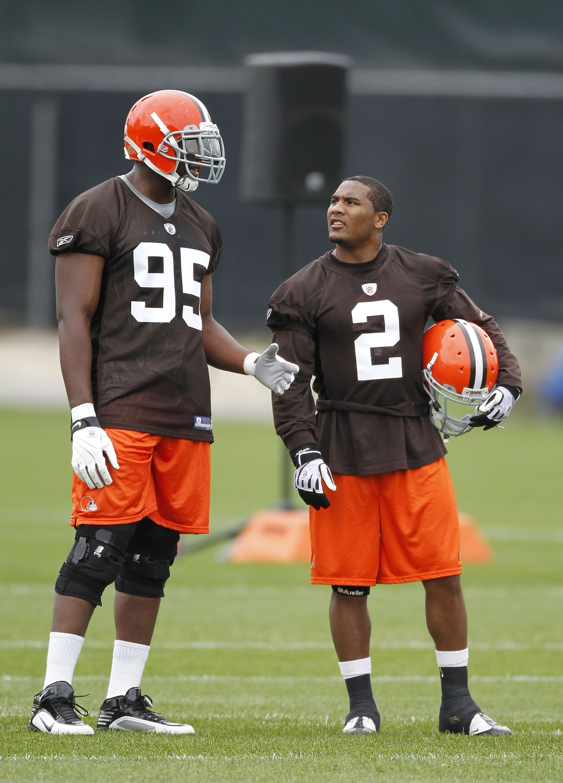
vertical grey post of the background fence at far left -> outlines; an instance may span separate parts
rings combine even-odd
[[[55,323],[53,259],[47,240],[56,211],[57,114],[52,96],[36,99],[31,107],[27,324],[39,329]]]

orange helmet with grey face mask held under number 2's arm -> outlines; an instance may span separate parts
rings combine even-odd
[[[448,413],[447,402],[479,406],[497,383],[498,357],[493,341],[476,323],[463,319],[439,321],[422,342],[422,378],[431,402],[432,424],[443,434],[464,435],[469,419]],[[475,413],[477,413],[475,407]]]

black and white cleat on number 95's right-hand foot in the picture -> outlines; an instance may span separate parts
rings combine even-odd
[[[96,728],[120,731],[156,731],[160,734],[195,734],[188,723],[173,723],[151,709],[152,700],[141,694],[140,687],[130,687],[124,696],[106,698],[100,707]]]

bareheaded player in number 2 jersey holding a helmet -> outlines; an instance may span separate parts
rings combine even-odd
[[[463,553],[439,431],[496,426],[520,392],[518,361],[449,263],[385,244],[392,211],[382,182],[345,179],[328,205],[335,249],[282,283],[267,318],[301,368],[284,399],[273,399],[274,424],[310,506],[310,581],[332,586],[332,640],[350,699],[342,731],[380,728],[371,588],[421,582],[442,685],[439,731],[510,734],[468,688]],[[436,327],[425,336],[429,318]],[[455,402],[478,410],[457,418]]]

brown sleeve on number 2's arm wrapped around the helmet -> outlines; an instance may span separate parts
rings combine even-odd
[[[456,286],[446,304],[440,305],[432,311],[432,318],[435,321],[440,321],[444,318],[463,318],[482,327],[493,341],[494,347],[497,348],[499,360],[497,384],[499,386],[503,384],[515,386],[522,392],[522,375],[518,359],[508,348],[504,334],[500,331],[493,316],[488,316],[486,312],[482,312],[464,290]]]

